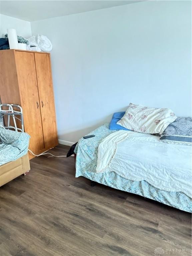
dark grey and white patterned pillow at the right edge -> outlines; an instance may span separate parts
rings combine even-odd
[[[167,126],[160,140],[165,143],[192,146],[192,118],[178,117]]]

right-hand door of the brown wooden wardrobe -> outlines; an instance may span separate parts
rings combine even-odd
[[[58,144],[50,54],[35,53],[45,148]]]

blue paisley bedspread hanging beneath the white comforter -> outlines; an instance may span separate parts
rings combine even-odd
[[[112,132],[115,132],[115,130],[109,130],[109,124],[104,124],[88,134],[94,134],[95,137],[79,140],[74,151],[77,154],[75,177],[84,176],[106,186],[144,196],[183,211],[192,212],[192,199],[182,192],[160,190],[145,180],[128,180],[113,171],[96,173],[98,146]]]

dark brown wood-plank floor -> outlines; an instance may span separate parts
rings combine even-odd
[[[62,145],[52,150],[67,151]],[[1,256],[191,255],[189,213],[91,187],[75,178],[72,157],[30,162],[29,175],[0,188]]]

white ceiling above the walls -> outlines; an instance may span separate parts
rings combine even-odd
[[[65,0],[0,1],[0,13],[27,21],[44,20],[75,13],[89,12],[142,1],[131,0]]]

